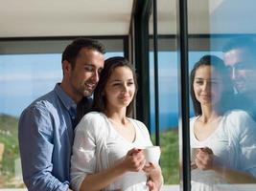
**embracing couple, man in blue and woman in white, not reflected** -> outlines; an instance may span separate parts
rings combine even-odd
[[[104,53],[98,41],[73,41],[62,53],[61,83],[22,113],[18,138],[28,190],[70,190],[70,177],[74,190],[160,189],[161,169],[146,163],[140,149],[151,145],[148,130],[128,117],[137,89],[133,68]],[[91,106],[97,112],[81,119]]]

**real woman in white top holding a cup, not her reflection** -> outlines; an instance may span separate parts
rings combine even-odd
[[[142,148],[152,145],[146,126],[128,117],[137,82],[123,57],[105,60],[94,92],[93,110],[76,128],[71,159],[74,190],[159,190],[159,165],[146,163]],[[149,180],[147,182],[147,180]]]

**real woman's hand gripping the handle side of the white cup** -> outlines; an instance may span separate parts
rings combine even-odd
[[[128,151],[126,158],[122,161],[122,166],[126,171],[139,172],[143,169],[146,160],[141,149],[133,148]]]

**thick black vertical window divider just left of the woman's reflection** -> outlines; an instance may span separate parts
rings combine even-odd
[[[176,0],[179,64],[180,190],[191,190],[187,0]]]

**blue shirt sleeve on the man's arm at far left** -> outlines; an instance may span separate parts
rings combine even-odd
[[[53,124],[43,107],[26,109],[18,125],[23,180],[30,191],[68,190],[68,182],[52,175]]]

